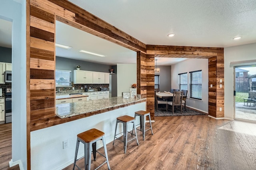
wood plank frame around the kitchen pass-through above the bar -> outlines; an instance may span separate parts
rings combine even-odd
[[[62,21],[138,52],[138,94],[146,97],[146,45],[67,0],[27,0],[28,84],[30,131],[88,115],[60,119],[55,115],[55,22]],[[140,65],[138,66],[140,68]],[[140,70],[140,69],[138,69]],[[140,81],[142,78],[142,81]],[[99,111],[100,112],[100,111]],[[96,113],[95,113],[96,114]]]

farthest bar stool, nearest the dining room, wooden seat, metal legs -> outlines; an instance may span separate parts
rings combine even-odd
[[[143,110],[136,111],[135,114],[134,114],[134,119],[136,119],[136,116],[140,116],[140,124],[138,124],[138,125],[140,125],[140,129],[137,129],[137,130],[142,131],[143,140],[145,139],[145,131],[151,129],[151,133],[153,135],[150,112],[149,111],[143,111]],[[146,116],[149,117],[150,126],[146,125]],[[148,126],[150,128],[145,130],[145,126]],[[134,129],[135,129],[135,127],[134,127]],[[132,132],[133,132],[133,129],[132,129]]]

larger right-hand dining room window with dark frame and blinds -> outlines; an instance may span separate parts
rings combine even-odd
[[[190,73],[190,98],[202,100],[202,70]]]

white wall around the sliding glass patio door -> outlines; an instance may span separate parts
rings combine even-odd
[[[234,118],[234,68],[230,62],[249,60],[256,60],[256,43],[224,48],[224,116],[227,118]]]

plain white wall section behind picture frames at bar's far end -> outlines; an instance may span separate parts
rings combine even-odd
[[[137,84],[137,64],[117,64],[117,96],[130,92],[134,83]]]

